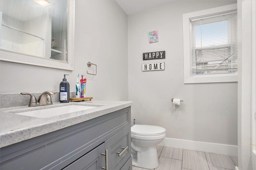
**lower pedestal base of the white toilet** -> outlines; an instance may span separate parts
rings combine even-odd
[[[140,151],[132,154],[135,154],[132,156],[132,166],[138,166],[146,169],[154,169],[159,166],[155,146],[149,148],[140,148]]]

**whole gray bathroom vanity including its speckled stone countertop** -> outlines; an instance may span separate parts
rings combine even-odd
[[[1,109],[0,169],[132,169],[131,102],[83,104],[96,107],[46,119]]]

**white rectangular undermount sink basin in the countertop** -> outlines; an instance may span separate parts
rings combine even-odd
[[[65,115],[67,113],[73,113],[73,112],[83,111],[83,110],[92,109],[92,108],[95,108],[95,107],[81,106],[81,105],[68,105],[68,106],[54,107],[49,109],[41,109],[36,111],[27,111],[27,112],[16,113],[16,114],[36,117],[36,118],[48,118],[48,117]]]

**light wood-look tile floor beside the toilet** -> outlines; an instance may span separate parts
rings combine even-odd
[[[157,146],[159,166],[154,170],[235,170],[238,157]],[[132,170],[148,170],[132,166]]]

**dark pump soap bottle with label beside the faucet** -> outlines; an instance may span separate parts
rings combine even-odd
[[[60,82],[60,103],[69,102],[69,83],[66,79],[66,75],[68,74],[64,74],[64,79]]]

